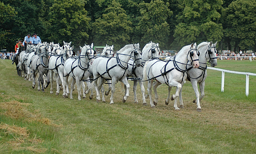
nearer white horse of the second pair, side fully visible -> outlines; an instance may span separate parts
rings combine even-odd
[[[92,64],[93,78],[95,80],[94,87],[97,93],[96,100],[100,101],[100,92],[102,84],[105,79],[111,79],[112,89],[110,104],[113,104],[113,94],[115,93],[115,83],[121,81],[126,86],[126,93],[122,101],[125,102],[129,96],[130,84],[127,82],[127,69],[128,61],[132,58],[134,61],[137,61],[137,66],[141,65],[141,50],[139,49],[138,44],[128,44],[122,49],[117,51],[116,56],[113,58],[98,57]],[[98,85],[98,78],[100,78],[100,84]],[[91,87],[92,88],[92,87]],[[90,88],[89,88],[90,89]]]

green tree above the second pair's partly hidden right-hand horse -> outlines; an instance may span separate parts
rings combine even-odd
[[[136,32],[140,34],[141,42],[145,44],[152,40],[161,47],[167,47],[170,33],[167,19],[172,15],[168,7],[169,2],[164,3],[163,0],[140,3],[141,17]]]

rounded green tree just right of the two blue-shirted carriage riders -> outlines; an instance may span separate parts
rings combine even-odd
[[[54,0],[49,13],[48,40],[60,43],[63,40],[72,41],[75,46],[82,46],[89,38],[90,21],[84,6],[85,3],[80,0]]]

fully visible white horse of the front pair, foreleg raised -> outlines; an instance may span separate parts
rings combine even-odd
[[[171,100],[176,99],[179,96],[180,89],[182,88],[182,82],[187,78],[187,67],[188,61],[192,61],[194,68],[199,67],[198,62],[199,52],[196,48],[196,43],[184,46],[176,55],[168,62],[162,61],[160,59],[154,59],[145,63],[143,70],[144,80],[148,80],[148,94],[150,97],[150,105],[152,108],[155,108],[155,105],[158,102],[158,95],[156,88],[160,84],[167,84],[168,94],[170,94],[171,87],[176,86],[175,95],[171,96]],[[156,79],[156,82],[153,84],[153,80]],[[152,84],[155,93],[154,102],[152,101]],[[165,103],[169,103],[170,97],[168,95]],[[174,104],[175,110],[180,110],[177,107],[177,104]]]

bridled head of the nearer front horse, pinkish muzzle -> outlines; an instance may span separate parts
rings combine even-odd
[[[196,42],[191,44],[190,50],[188,53],[189,61],[192,61],[193,68],[199,68],[199,59],[198,56],[200,55],[199,51],[197,50]]]

